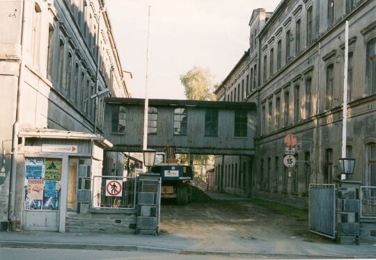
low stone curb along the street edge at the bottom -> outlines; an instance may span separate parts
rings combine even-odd
[[[164,247],[149,247],[144,245],[104,245],[87,243],[56,243],[56,242],[23,242],[23,241],[0,241],[0,247],[13,248],[42,248],[42,249],[75,249],[75,250],[109,250],[109,251],[133,251],[133,252],[159,252],[170,254],[196,254],[212,255],[223,257],[283,257],[297,259],[354,259],[359,257],[335,256],[335,255],[305,255],[305,254],[274,254],[262,252],[221,252],[221,251],[197,251],[197,250],[179,250]],[[361,258],[370,258],[370,256],[361,256]]]

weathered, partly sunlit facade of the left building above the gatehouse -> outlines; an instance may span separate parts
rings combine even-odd
[[[6,151],[5,172],[0,175],[1,222],[8,214],[17,112],[19,128],[102,133],[103,97],[97,106],[88,97],[104,88],[109,88],[110,96],[128,96],[102,4],[101,0],[1,1],[0,95],[5,98],[0,142]]]

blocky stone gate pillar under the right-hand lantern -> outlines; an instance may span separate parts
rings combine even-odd
[[[361,181],[338,181],[337,238],[341,244],[359,244],[359,187]]]

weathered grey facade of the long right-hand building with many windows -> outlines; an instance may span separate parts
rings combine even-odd
[[[367,48],[376,35],[372,15],[376,3],[354,1],[347,9],[345,1],[335,1],[332,24],[328,21],[328,4],[281,1],[257,34],[256,54],[250,52],[250,57],[258,56],[259,71],[256,86],[251,87],[254,91],[247,97],[247,101],[258,104],[252,178],[256,197],[306,206],[308,184],[331,183],[338,178],[345,20],[350,25],[349,53],[353,57],[347,152],[356,163],[350,178],[370,185],[368,159],[376,140],[376,97],[375,90],[367,88],[371,73],[366,67],[370,62]],[[332,94],[329,81],[333,82]],[[295,154],[297,165],[289,169],[283,165],[283,137],[288,133],[294,133],[301,142]]]

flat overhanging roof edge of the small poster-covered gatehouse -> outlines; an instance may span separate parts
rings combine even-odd
[[[103,136],[76,131],[65,131],[48,128],[22,128],[18,131],[18,137],[25,138],[47,138],[47,139],[75,139],[75,140],[93,140],[102,148],[113,147],[109,140]]]

